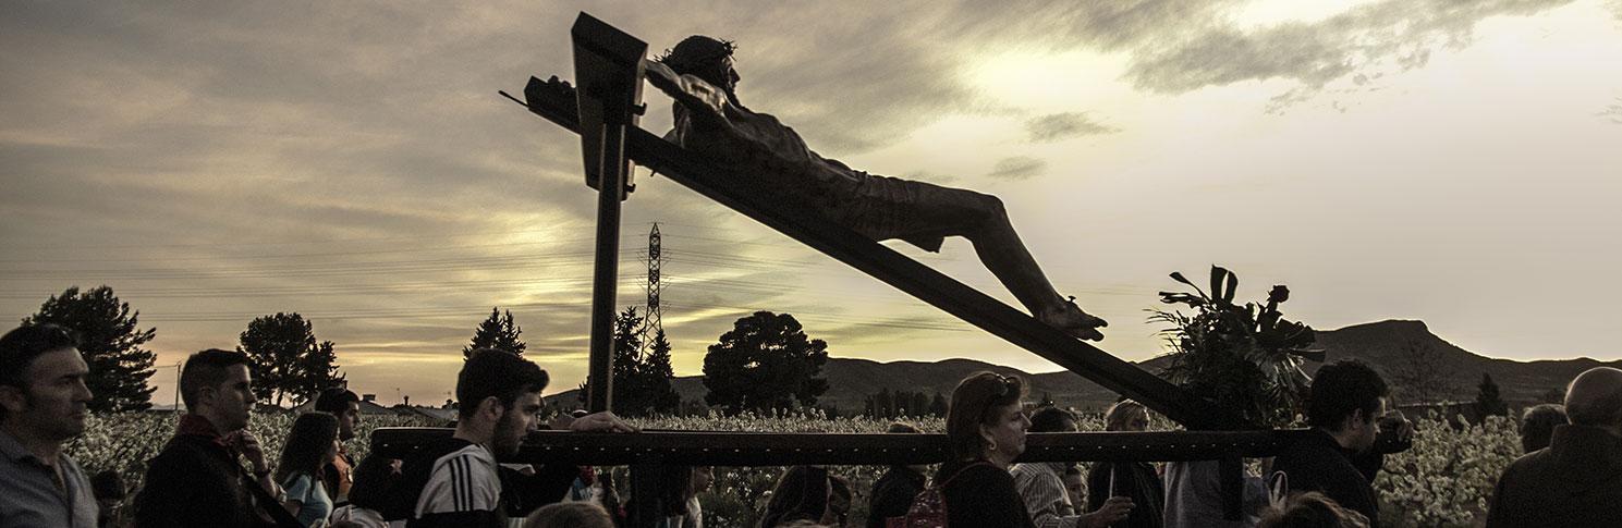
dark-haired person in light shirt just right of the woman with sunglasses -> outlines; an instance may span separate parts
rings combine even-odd
[[[1030,415],[1030,432],[1075,432],[1075,415],[1056,405],[1046,405]],[[1014,489],[1025,500],[1032,523],[1036,528],[1109,526],[1127,520],[1135,507],[1131,497],[1108,497],[1098,510],[1083,513],[1085,504],[1071,500],[1064,486],[1069,462],[1025,462],[1009,470]],[[1108,491],[1105,491],[1108,492]]]

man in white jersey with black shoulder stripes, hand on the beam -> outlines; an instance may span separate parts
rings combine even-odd
[[[406,462],[402,486],[420,489],[414,494],[410,520],[406,526],[506,526],[519,509],[511,502],[530,497],[534,483],[521,484],[524,492],[503,491],[503,483],[524,481],[506,471],[496,460],[517,455],[524,436],[535,428],[540,392],[547,389],[547,371],[504,350],[475,350],[456,377],[456,434],[430,445]],[[611,413],[586,415],[569,423],[571,431],[636,431]],[[555,496],[556,502],[577,471],[566,475]],[[540,504],[532,504],[539,507]]]

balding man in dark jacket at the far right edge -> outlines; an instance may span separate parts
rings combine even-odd
[[[1577,374],[1565,416],[1549,447],[1504,470],[1487,528],[1622,526],[1622,369]]]

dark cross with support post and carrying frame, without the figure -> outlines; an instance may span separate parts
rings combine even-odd
[[[740,214],[845,262],[884,283],[991,332],[1020,348],[1134,398],[1166,415],[1187,431],[1156,432],[1033,432],[1019,462],[1103,460],[1218,460],[1225,517],[1241,518],[1242,458],[1270,457],[1302,429],[1260,429],[1238,413],[1199,398],[1132,363],[1049,327],[962,282],[863,236],[821,212],[793,201],[770,199],[759,178],[749,178],[672,144],[642,128],[647,44],[590,15],[571,29],[574,79],[530,78],[524,100],[529,112],[581,136],[586,185],[597,191],[597,256],[592,283],[590,363],[587,407],[611,410],[613,316],[618,279],[620,207],[633,191],[631,162],[649,167]],[[384,428],[371,434],[371,449],[402,458],[436,439],[443,428]],[[514,462],[629,465],[631,494],[654,492],[663,465],[787,466],[787,465],[920,465],[950,457],[944,434],[770,434],[707,431],[642,431],[634,434],[537,431],[526,437]],[[634,500],[631,526],[652,526],[657,500]]]

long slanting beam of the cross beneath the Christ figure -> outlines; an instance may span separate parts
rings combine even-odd
[[[524,96],[535,115],[569,131],[581,131],[576,92],[568,83],[530,78]],[[624,141],[626,155],[637,164],[1082,377],[1142,402],[1189,429],[1254,428],[1226,408],[1200,400],[1132,363],[826,219],[792,196],[782,196],[780,189],[762,188],[756,178],[715,167],[636,126],[626,126]]]

